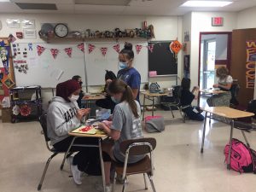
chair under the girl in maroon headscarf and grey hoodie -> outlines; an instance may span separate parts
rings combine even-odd
[[[52,153],[52,155],[50,155],[49,159],[46,161],[46,164],[44,166],[44,172],[43,172],[43,175],[40,179],[40,182],[38,184],[38,190],[41,190],[42,188],[42,184],[44,182],[44,177],[45,177],[45,174],[47,172],[47,169],[48,169],[48,166],[49,166],[49,162],[57,155],[57,154],[65,154],[66,151],[57,151],[55,148],[50,148],[49,147],[49,137],[48,137],[48,134],[47,134],[47,113],[43,113],[40,117],[39,117],[39,122],[40,122],[40,125],[42,126],[42,129],[43,129],[43,133],[44,133],[44,139],[45,139],[45,143],[46,143],[46,147],[48,148],[48,150]],[[69,157],[71,154],[73,154],[72,152],[69,153],[67,155],[67,157]],[[64,162],[65,162],[65,157],[64,157],[64,160],[62,161],[62,164],[61,164],[61,169],[62,167],[64,166]]]

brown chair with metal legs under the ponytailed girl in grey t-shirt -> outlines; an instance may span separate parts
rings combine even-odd
[[[120,143],[120,151],[121,153],[125,154],[125,163],[121,164],[113,160],[113,166],[115,167],[115,175],[112,191],[114,191],[117,175],[121,175],[122,180],[124,181],[122,192],[125,192],[127,185],[127,177],[135,174],[143,174],[145,189],[148,189],[146,181],[147,174],[151,187],[153,191],[156,192],[154,188],[154,182],[152,179],[154,175],[153,150],[155,147],[156,140],[154,138],[131,139]],[[128,164],[128,158],[130,155],[141,154],[145,154],[143,160],[140,160],[134,164]]]

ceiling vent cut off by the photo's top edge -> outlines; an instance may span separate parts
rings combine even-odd
[[[131,0],[75,0],[76,4],[128,6]]]

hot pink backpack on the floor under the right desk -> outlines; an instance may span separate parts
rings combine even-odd
[[[229,159],[230,143],[224,148],[225,162]],[[253,160],[250,152],[250,148],[239,141],[238,139],[232,139],[231,156],[230,156],[230,168],[236,172],[253,172]]]

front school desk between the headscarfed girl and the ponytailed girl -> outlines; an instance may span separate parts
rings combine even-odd
[[[70,148],[74,147],[84,147],[84,148],[99,148],[99,153],[100,153],[100,160],[101,160],[101,167],[102,167],[102,184],[103,184],[103,189],[105,192],[105,187],[106,187],[106,181],[105,181],[105,172],[104,172],[104,162],[103,162],[103,157],[102,157],[102,138],[107,137],[105,134],[99,134],[96,133],[94,135],[90,134],[84,134],[84,133],[79,133],[79,132],[73,132],[69,131],[68,135],[73,136],[73,140],[70,143],[69,147],[67,148],[67,152],[65,154],[65,159],[67,158],[67,154],[70,151]],[[96,137],[98,138],[98,144],[97,145],[86,145],[86,144],[74,144],[74,141],[78,137]]]

